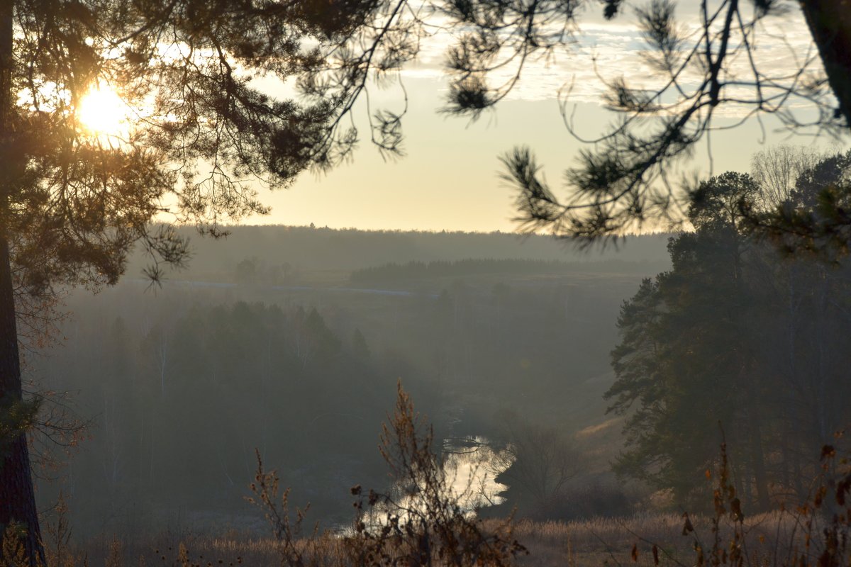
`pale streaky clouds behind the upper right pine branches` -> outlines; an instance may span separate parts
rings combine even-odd
[[[698,37],[698,22],[683,20],[680,23],[681,37]],[[623,78],[632,88],[654,92],[664,84],[665,76],[649,62],[654,55],[648,50],[637,26],[623,19],[614,22],[591,21],[580,24],[573,35],[574,42],[563,45],[545,57],[532,58],[523,68],[521,81],[512,88],[506,99],[549,100],[568,94],[571,103],[603,104],[606,83]],[[728,79],[753,82],[751,62],[742,49],[741,38],[734,38],[731,48],[740,48],[738,56],[727,61]],[[443,68],[448,46],[454,41],[447,32],[441,32],[423,44],[416,65],[403,71],[403,77],[446,79]],[[823,73],[808,28],[798,10],[782,16],[766,18],[754,27],[751,37],[751,53],[762,79],[786,83],[793,71],[808,62],[808,75]],[[690,46],[688,40],[684,43]],[[514,68],[510,65],[496,71],[489,78],[492,86],[511,79]],[[684,88],[695,88],[703,77],[694,70],[682,77]],[[770,91],[769,91],[770,92]],[[776,93],[776,91],[774,91]],[[725,92],[729,97],[753,99],[754,88],[743,84]],[[800,99],[792,99],[790,109],[807,105]],[[719,108],[722,116],[744,116],[750,106],[726,105]]]

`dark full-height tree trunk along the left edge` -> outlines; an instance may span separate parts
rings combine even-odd
[[[14,1],[0,0],[0,149],[9,155],[14,145],[11,112],[12,94]],[[14,170],[4,164],[8,172]],[[23,401],[18,358],[18,330],[14,312],[12,270],[9,258],[9,179],[0,182],[0,411],[9,412]],[[5,186],[3,186],[5,184]],[[21,544],[30,565],[44,564],[41,531],[35,492],[32,486],[30,454],[26,432],[9,439],[8,451],[0,453],[0,526],[22,524],[26,535]]]

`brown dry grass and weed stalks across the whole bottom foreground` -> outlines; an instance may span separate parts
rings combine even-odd
[[[851,565],[851,461],[822,450],[817,490],[801,506],[745,516],[728,476],[726,445],[713,494],[714,513],[647,513],[624,519],[534,522],[479,521],[460,507],[440,461],[432,432],[400,386],[397,411],[381,435],[381,451],[408,490],[381,495],[352,487],[355,519],[343,534],[300,531],[304,515],[291,514],[288,491],[258,456],[251,485],[273,537],[164,535],[101,537],[71,545],[66,506],[46,525],[49,567],[847,567]],[[294,515],[294,521],[291,521]],[[0,567],[25,567],[21,534],[9,526],[0,541]],[[526,553],[528,551],[528,553]]]

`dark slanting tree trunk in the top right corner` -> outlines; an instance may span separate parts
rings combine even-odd
[[[839,99],[837,114],[851,127],[851,6],[847,0],[801,0],[801,9]]]

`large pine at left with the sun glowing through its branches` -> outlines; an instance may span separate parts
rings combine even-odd
[[[13,272],[31,295],[111,284],[140,243],[156,280],[163,263],[186,259],[186,241],[152,221],[168,213],[219,235],[220,220],[266,210],[253,180],[278,186],[333,165],[357,139],[340,119],[369,71],[411,53],[397,10],[373,0],[0,2],[0,525],[24,525],[30,564],[43,559],[24,435],[35,404],[20,386]],[[306,98],[271,96],[259,77],[297,79]],[[83,122],[87,94],[105,90],[132,115],[115,132]],[[396,150],[397,129],[374,140]]]

